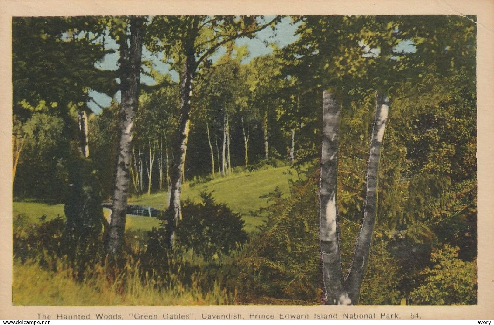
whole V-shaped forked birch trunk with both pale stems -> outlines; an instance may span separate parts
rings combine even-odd
[[[369,165],[367,168],[367,198],[364,219],[354,251],[352,266],[346,279],[341,273],[339,235],[337,229],[336,184],[338,165],[339,104],[333,96],[323,93],[323,148],[320,183],[320,244],[323,260],[323,280],[328,305],[357,304],[360,286],[369,263],[372,235],[376,222],[379,161],[389,107],[387,98],[377,96],[372,126]]]

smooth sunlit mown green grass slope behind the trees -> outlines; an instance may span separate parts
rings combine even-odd
[[[185,183],[182,190],[182,200],[190,199],[199,201],[199,194],[207,189],[213,192],[213,197],[217,202],[226,203],[232,210],[242,214],[245,220],[245,230],[248,233],[255,231],[256,227],[263,223],[262,217],[251,215],[255,211],[267,205],[266,199],[260,196],[272,192],[278,187],[285,195],[289,193],[288,175],[289,167],[269,168],[256,170],[253,172],[241,172],[229,177],[216,178],[204,184],[191,186]],[[167,202],[166,192],[159,192],[150,196],[143,195],[131,198],[133,204],[152,206],[165,209]],[[107,212],[107,211],[106,211]],[[30,217],[31,222],[37,222],[41,215],[46,215],[46,219],[55,218],[57,215],[64,215],[63,204],[48,205],[43,203],[13,203],[14,215],[23,213]],[[142,216],[127,216],[127,229],[150,230],[153,226],[158,226],[159,221],[155,218]]]

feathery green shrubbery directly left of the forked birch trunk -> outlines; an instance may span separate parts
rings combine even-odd
[[[260,297],[269,297],[320,302],[316,184],[311,177],[294,186],[290,198],[283,199],[279,190],[270,195],[267,225],[240,262],[241,301],[260,303]]]

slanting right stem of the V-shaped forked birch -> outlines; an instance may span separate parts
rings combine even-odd
[[[353,304],[359,301],[360,286],[367,272],[369,255],[372,245],[372,235],[377,217],[377,191],[379,185],[379,165],[381,158],[382,140],[388,119],[388,99],[377,95],[374,123],[367,166],[367,198],[364,209],[364,219],[360,234],[355,246],[350,273],[346,279],[346,286]]]

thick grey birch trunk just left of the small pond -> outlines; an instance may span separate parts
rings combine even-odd
[[[124,244],[125,218],[127,214],[127,196],[129,186],[129,164],[131,155],[132,127],[138,106],[138,85],[142,54],[141,17],[130,18],[130,39],[122,35],[120,42],[120,87],[122,100],[119,108],[119,155],[115,187],[113,192],[110,229],[105,240],[106,252],[116,256]]]

